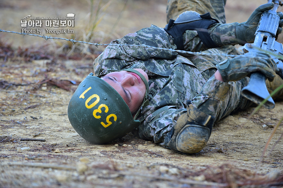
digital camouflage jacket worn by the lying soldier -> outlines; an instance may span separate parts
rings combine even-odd
[[[213,30],[213,28],[212,28]],[[205,50],[196,31],[184,34],[187,50]],[[149,105],[142,109],[139,135],[143,139],[167,147],[171,138],[173,117],[185,110],[186,100],[192,100],[200,93],[203,85],[214,74],[218,64],[226,59],[216,56],[181,56],[175,49],[173,38],[163,28],[152,25],[138,32],[128,34],[112,44],[150,45],[164,49],[150,49],[143,46],[108,46],[94,62],[95,75],[100,68],[140,68],[149,76]],[[234,47],[224,47],[225,53],[239,52]],[[223,54],[223,49],[209,49],[207,53]]]

